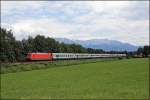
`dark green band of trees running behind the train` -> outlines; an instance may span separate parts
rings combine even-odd
[[[0,62],[16,62],[23,61],[29,52],[66,52],[66,53],[126,53],[132,52],[105,52],[102,49],[84,48],[78,44],[64,44],[55,41],[50,37],[37,35],[36,37],[29,36],[28,39],[21,41],[16,40],[11,30],[6,30],[0,27]],[[149,46],[139,48],[134,54],[148,56]]]

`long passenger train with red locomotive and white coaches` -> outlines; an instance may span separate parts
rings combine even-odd
[[[28,53],[27,61],[52,61],[69,59],[125,57],[126,54],[87,54],[87,53]]]

